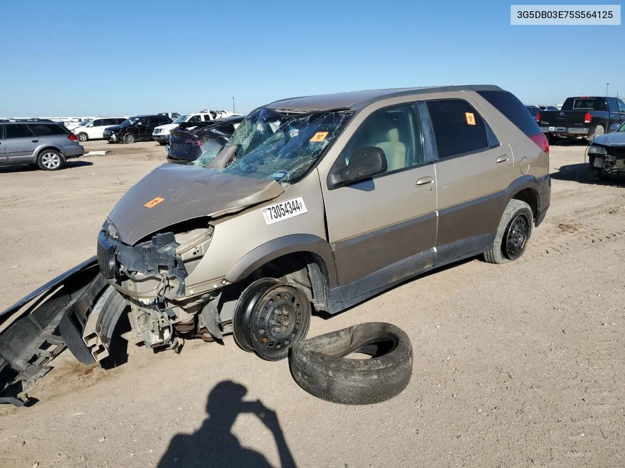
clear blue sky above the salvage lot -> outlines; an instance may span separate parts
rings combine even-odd
[[[452,83],[496,84],[527,104],[602,95],[607,82],[625,95],[625,26],[511,26],[501,1],[5,0],[0,26],[0,115],[232,109],[232,97],[248,112]]]

